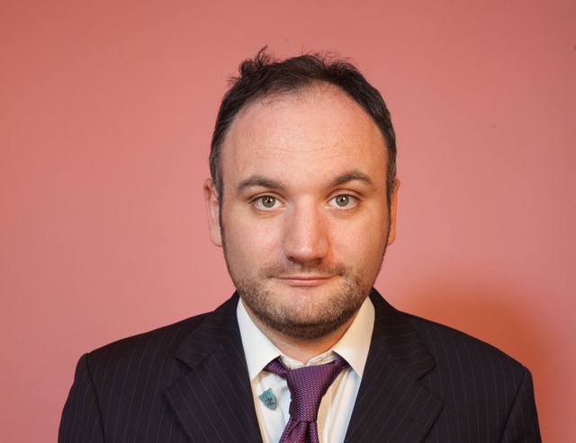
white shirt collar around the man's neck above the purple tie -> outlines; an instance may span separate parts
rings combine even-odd
[[[289,368],[303,366],[302,363],[284,356],[272,341],[266,337],[264,332],[258,329],[248,315],[241,298],[238,301],[237,317],[250,380],[254,380],[262,369],[278,356],[282,357]],[[366,297],[358,310],[354,322],[352,322],[342,338],[331,350],[311,359],[308,365],[327,363],[329,360],[334,359],[334,353],[337,353],[346,359],[350,367],[356,372],[356,375],[362,378],[373,330],[374,305],[370,298]]]

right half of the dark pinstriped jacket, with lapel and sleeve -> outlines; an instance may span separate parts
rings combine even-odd
[[[463,332],[395,310],[375,291],[371,298],[374,337],[348,443],[541,441],[527,368]]]

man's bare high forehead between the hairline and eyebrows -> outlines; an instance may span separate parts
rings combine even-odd
[[[221,152],[224,182],[249,173],[326,171],[343,160],[383,173],[386,146],[364,109],[327,84],[250,104],[230,125]]]

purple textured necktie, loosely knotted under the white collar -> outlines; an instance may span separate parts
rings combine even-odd
[[[280,357],[266,365],[266,371],[286,379],[290,390],[290,420],[278,443],[320,443],[316,423],[320,401],[338,374],[348,366],[339,356],[326,365],[292,370],[284,366]]]

